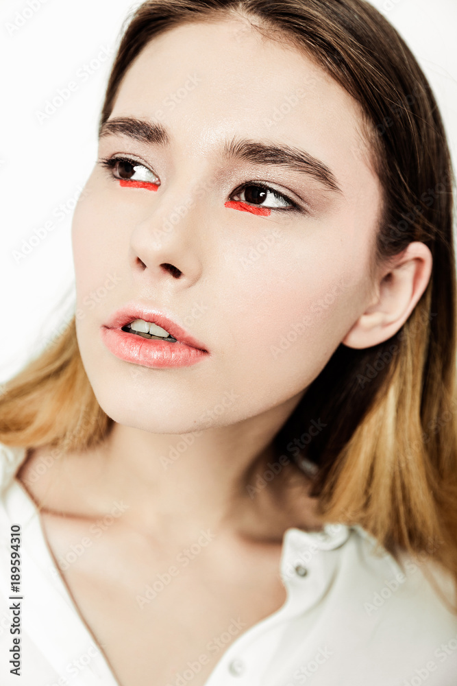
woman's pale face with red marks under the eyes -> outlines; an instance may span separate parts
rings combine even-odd
[[[73,220],[77,338],[101,407],[175,434],[295,405],[373,293],[381,196],[356,103],[297,50],[220,21],[153,39],[121,84],[119,118],[99,157],[123,161],[95,165]],[[166,137],[129,135],[131,118]],[[121,359],[105,327],[132,303],[208,353]]]

